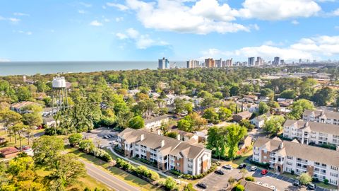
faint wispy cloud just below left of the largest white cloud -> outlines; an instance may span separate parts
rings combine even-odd
[[[116,36],[120,40],[133,40],[136,44],[136,48],[138,49],[146,49],[152,46],[159,45],[168,45],[167,42],[162,40],[153,40],[149,35],[143,35],[133,28],[129,28],[126,30],[126,33],[117,33]]]

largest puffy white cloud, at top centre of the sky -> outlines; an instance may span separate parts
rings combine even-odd
[[[230,22],[235,20],[233,14],[237,11],[217,0],[196,1],[191,7],[180,0],[160,0],[157,4],[126,0],[126,6],[136,11],[145,28],[197,34],[249,31],[249,27]]]

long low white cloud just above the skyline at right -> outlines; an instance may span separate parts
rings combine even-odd
[[[273,57],[281,57],[285,60],[296,59],[321,59],[325,57],[339,56],[339,36],[319,36],[302,38],[298,42],[287,47],[276,47],[272,41],[265,42],[258,47],[243,47],[234,51],[222,51],[210,49],[202,52],[203,57],[256,57],[266,60]]]

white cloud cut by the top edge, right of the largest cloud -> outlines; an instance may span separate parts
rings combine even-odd
[[[321,7],[313,0],[245,0],[239,9],[240,17],[261,20],[283,20],[287,18],[315,16]]]

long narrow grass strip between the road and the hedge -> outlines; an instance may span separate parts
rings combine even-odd
[[[99,158],[95,158],[94,156],[90,156],[88,154],[84,154],[83,152],[79,151],[76,148],[72,147],[66,147],[66,151],[76,154],[84,161],[88,161],[90,163],[94,163],[97,166],[100,166],[102,169],[109,171],[112,173],[115,177],[124,180],[129,185],[133,185],[136,187],[141,187],[142,190],[158,190],[157,187],[154,185],[151,185],[150,183],[146,182],[145,180],[142,180],[141,178],[136,177],[135,175],[131,175],[130,173],[126,173],[124,170],[121,170],[117,167],[109,167],[108,163],[105,161],[100,160]],[[109,154],[113,156],[112,152],[109,151]],[[114,157],[116,159],[117,156]]]

